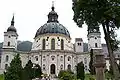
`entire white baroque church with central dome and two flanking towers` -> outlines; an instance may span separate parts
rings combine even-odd
[[[84,52],[82,38],[76,38],[75,43],[71,43],[69,31],[59,23],[58,14],[55,12],[54,6],[51,9],[47,23],[36,32],[30,52],[17,50],[18,34],[14,27],[13,16],[11,26],[4,32],[0,74],[5,71],[18,53],[20,54],[23,67],[28,60],[31,60],[34,64],[39,64],[42,72],[48,75],[58,75],[60,70],[67,69],[75,72],[75,66],[81,61],[84,63],[85,72],[89,72],[89,50],[91,48],[102,49],[101,33],[96,30],[88,33],[88,52]],[[107,62],[107,65],[109,65],[109,62]]]

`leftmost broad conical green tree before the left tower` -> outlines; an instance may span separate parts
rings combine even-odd
[[[22,63],[19,54],[17,54],[11,61],[10,66],[4,73],[4,80],[22,80]]]

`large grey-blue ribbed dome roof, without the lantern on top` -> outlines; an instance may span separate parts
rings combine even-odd
[[[70,37],[68,30],[62,24],[56,23],[56,22],[46,23],[43,26],[41,26],[37,30],[35,37],[37,37],[38,35],[47,34],[47,33],[64,34]]]

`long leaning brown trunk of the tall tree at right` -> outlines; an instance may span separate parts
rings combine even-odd
[[[110,64],[113,68],[114,78],[115,78],[115,80],[120,80],[119,70],[118,70],[117,64],[115,62],[115,57],[114,57],[114,54],[113,54],[113,51],[111,48],[111,44],[110,44],[110,35],[108,33],[109,31],[106,30],[105,24],[102,24],[102,26],[103,26],[103,31],[105,34],[105,41],[106,41],[107,49],[108,49],[108,53],[109,53]]]

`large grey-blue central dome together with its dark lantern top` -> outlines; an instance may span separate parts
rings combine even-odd
[[[41,26],[37,32],[35,37],[42,35],[42,34],[49,34],[49,33],[56,33],[56,34],[64,34],[70,37],[68,30],[59,23],[58,15],[54,11],[54,6],[52,6],[52,11],[48,14],[48,21],[46,24]]]

